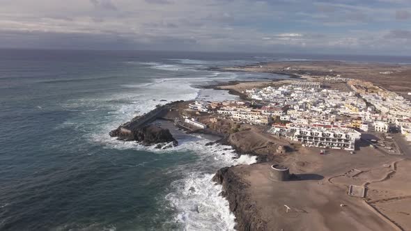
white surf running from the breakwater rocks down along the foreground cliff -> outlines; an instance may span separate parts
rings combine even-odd
[[[134,149],[157,154],[192,152],[198,160],[192,164],[170,169],[182,177],[171,183],[171,193],[165,196],[166,205],[175,211],[172,223],[184,230],[234,230],[235,216],[228,207],[228,201],[219,196],[222,186],[212,182],[215,171],[224,166],[254,164],[256,157],[241,155],[227,145],[206,145],[210,142],[199,135],[186,135],[179,139],[180,145],[166,150],[156,149],[155,145],[144,146],[137,142],[118,141],[110,138],[107,148]],[[105,142],[105,138],[104,141]],[[144,163],[143,163],[144,164]]]

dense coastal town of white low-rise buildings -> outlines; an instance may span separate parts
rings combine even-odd
[[[354,150],[360,132],[387,133],[398,129],[411,141],[411,102],[373,83],[346,83],[350,90],[322,88],[321,81],[295,81],[279,87],[246,90],[249,102],[195,102],[190,109],[214,110],[220,117],[253,125],[271,125],[268,132],[303,145]]]

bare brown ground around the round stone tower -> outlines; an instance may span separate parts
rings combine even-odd
[[[319,152],[300,148],[269,163],[228,168],[222,184],[230,205],[237,205],[236,216],[251,230],[410,230],[411,189],[405,182],[411,161],[368,147],[355,154]],[[270,179],[275,163],[288,166],[297,180]],[[346,175],[352,169],[362,173]],[[350,184],[367,186],[366,198],[348,196]],[[247,230],[242,225],[239,230]]]

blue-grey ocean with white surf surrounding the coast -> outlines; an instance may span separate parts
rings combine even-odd
[[[233,230],[212,175],[251,164],[212,138],[173,130],[156,150],[108,133],[174,100],[237,99],[202,88],[276,74],[209,67],[276,60],[410,58],[171,51],[0,50],[0,230]],[[166,100],[166,101],[164,101]]]

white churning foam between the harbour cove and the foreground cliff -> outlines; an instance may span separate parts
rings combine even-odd
[[[176,209],[174,221],[184,230],[234,230],[235,216],[228,207],[228,201],[219,196],[222,186],[212,182],[213,173],[204,169],[217,170],[223,166],[254,164],[256,157],[242,155],[235,158],[235,152],[226,145],[198,145],[187,143],[184,148],[192,149],[199,155],[199,164],[187,169],[185,177],[171,184],[174,189],[166,196]]]

